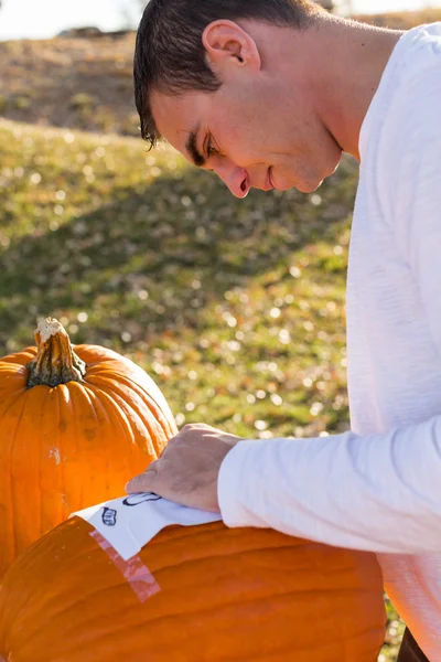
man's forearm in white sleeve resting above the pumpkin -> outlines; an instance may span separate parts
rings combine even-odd
[[[218,483],[228,526],[370,552],[441,551],[441,418],[388,435],[243,441]]]

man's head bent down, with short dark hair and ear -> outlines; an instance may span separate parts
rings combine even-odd
[[[323,24],[338,34],[309,0],[150,0],[135,54],[143,138],[166,138],[239,197],[313,191],[342,153],[324,117],[338,83],[326,67],[345,55]]]

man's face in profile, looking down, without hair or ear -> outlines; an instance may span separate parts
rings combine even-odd
[[[312,192],[342,154],[308,90],[287,89],[265,72],[224,82],[209,94],[153,93],[151,105],[161,135],[238,197],[251,188]]]

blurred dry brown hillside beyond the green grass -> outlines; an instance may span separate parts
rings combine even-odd
[[[354,18],[407,30],[441,20],[441,10]],[[135,33],[0,42],[0,117],[138,136],[132,98],[133,47]]]

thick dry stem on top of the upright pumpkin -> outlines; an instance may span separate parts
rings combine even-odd
[[[39,322],[35,340],[36,356],[26,365],[29,388],[83,382],[86,364],[75,354],[69,337],[58,320],[47,318]]]

